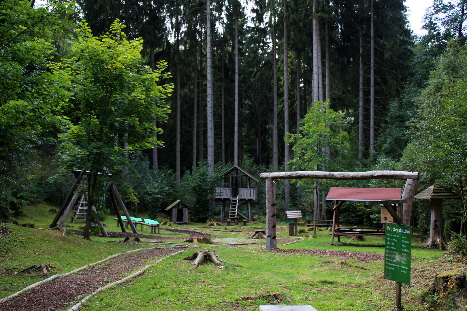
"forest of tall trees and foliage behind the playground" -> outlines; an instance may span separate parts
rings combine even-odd
[[[402,0],[2,1],[0,217],[61,204],[72,169],[112,174],[88,182],[96,198],[115,182],[131,213],[180,199],[193,221],[219,215],[233,164],[406,170],[461,195],[444,226],[465,234],[466,4],[435,0],[414,36]],[[277,181],[278,215],[330,217],[333,186],[403,185]],[[429,202],[412,215],[427,234]],[[349,203],[341,221],[374,227],[379,207]]]

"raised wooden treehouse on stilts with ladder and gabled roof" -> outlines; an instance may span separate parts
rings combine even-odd
[[[215,199],[221,200],[220,220],[225,218],[234,221],[242,216],[251,221],[251,202],[258,199],[258,180],[249,173],[234,165],[222,177],[224,187],[216,188]],[[229,201],[229,214],[225,216],[226,203]],[[241,214],[239,209],[247,205],[248,217]],[[239,216],[240,215],[240,216]]]

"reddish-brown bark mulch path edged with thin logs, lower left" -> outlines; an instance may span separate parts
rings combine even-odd
[[[148,261],[168,256],[180,249],[148,249],[119,256],[49,283],[0,304],[0,311],[56,311],[71,307],[99,287],[120,280],[143,268]],[[79,299],[77,297],[80,297]]]

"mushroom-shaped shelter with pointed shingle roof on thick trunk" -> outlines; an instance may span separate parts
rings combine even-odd
[[[414,196],[415,199],[431,200],[431,221],[430,221],[430,237],[422,249],[431,249],[436,242],[439,249],[446,249],[447,243],[443,236],[443,199],[461,199],[461,197],[452,191],[434,184],[423,189]]]

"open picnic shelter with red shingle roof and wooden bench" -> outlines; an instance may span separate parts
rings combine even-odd
[[[331,235],[331,245],[334,245],[334,236],[340,242],[341,235],[372,235],[384,236],[384,228],[354,228],[341,227],[339,221],[339,208],[346,201],[365,202],[367,205],[384,205],[389,214],[397,215],[396,204],[404,203],[407,200],[401,199],[401,188],[347,188],[331,187],[326,196],[326,200],[334,201],[333,233]],[[391,211],[393,213],[391,213]],[[394,216],[393,216],[394,217]]]

